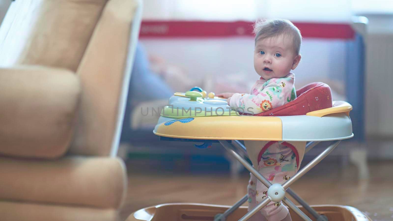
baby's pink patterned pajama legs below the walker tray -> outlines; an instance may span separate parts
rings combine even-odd
[[[284,184],[296,174],[303,159],[306,142],[244,141],[253,167],[271,183]],[[250,173],[248,190],[248,211],[261,203],[268,188]],[[261,213],[267,220],[282,220],[288,215],[288,208],[281,202],[270,202]],[[250,220],[265,220],[256,214]]]

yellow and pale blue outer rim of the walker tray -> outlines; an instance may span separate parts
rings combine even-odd
[[[181,120],[161,116],[153,133],[204,140],[343,140],[353,137],[348,117],[350,110],[349,103],[335,101],[331,108],[301,116],[238,116],[234,113],[231,116],[196,117],[189,114]]]

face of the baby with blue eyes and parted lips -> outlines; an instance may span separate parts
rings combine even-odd
[[[298,66],[300,58],[292,37],[286,35],[259,39],[255,44],[254,68],[266,80],[285,77]]]

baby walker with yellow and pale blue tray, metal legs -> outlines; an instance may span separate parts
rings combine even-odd
[[[199,148],[206,148],[212,142],[220,142],[268,187],[268,197],[250,212],[247,212],[245,206],[241,206],[248,200],[248,195],[245,195],[231,207],[195,203],[160,204],[134,212],[127,221],[246,221],[270,201],[285,203],[292,209],[290,214],[294,221],[371,221],[367,215],[351,206],[310,207],[289,188],[325,158],[341,140],[353,137],[352,122],[349,118],[352,106],[344,101],[331,101],[331,89],[328,85],[312,83],[296,91],[296,94],[298,98],[286,105],[257,116],[246,116],[231,110],[226,99],[215,97],[213,93],[207,96],[206,91],[198,87],[186,93],[175,93],[169,99],[169,105],[163,108],[153,133],[160,136],[161,140],[204,142],[196,145]],[[332,143],[283,185],[272,185],[242,157],[247,156],[247,153],[239,140],[270,140],[280,143],[307,141],[306,153],[322,141]],[[285,196],[286,193],[302,206],[292,203]]]

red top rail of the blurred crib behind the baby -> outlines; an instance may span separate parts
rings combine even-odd
[[[294,22],[305,38],[352,39],[350,24]],[[140,37],[253,36],[253,22],[142,21]]]

